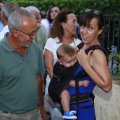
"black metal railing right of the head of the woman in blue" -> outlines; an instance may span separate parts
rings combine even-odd
[[[107,50],[116,46],[117,51],[120,52],[120,15],[105,16],[105,40],[103,45]]]

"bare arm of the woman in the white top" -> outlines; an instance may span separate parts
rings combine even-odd
[[[53,53],[51,51],[45,49],[44,58],[45,58],[46,71],[49,74],[50,79],[52,79],[52,77],[53,77],[53,65],[54,65]]]

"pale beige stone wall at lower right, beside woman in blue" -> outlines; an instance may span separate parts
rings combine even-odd
[[[113,83],[112,91],[94,89],[96,120],[120,120],[120,86]]]

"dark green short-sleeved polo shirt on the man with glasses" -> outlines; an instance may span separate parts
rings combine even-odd
[[[37,74],[44,72],[43,58],[34,41],[24,57],[6,37],[0,41],[0,110],[24,113],[38,105]]]

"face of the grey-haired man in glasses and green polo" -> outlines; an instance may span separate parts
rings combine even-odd
[[[33,40],[36,39],[38,31],[37,21],[34,18],[23,17],[23,26],[19,30],[14,28],[17,32],[17,41],[21,47],[29,47]]]

